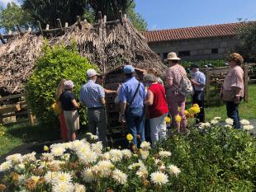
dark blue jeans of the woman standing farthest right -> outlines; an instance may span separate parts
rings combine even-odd
[[[227,116],[230,119],[234,120],[233,126],[236,129],[240,129],[240,118],[239,118],[239,112],[238,112],[239,104],[235,104],[234,101],[226,101],[225,105],[226,105]]]

